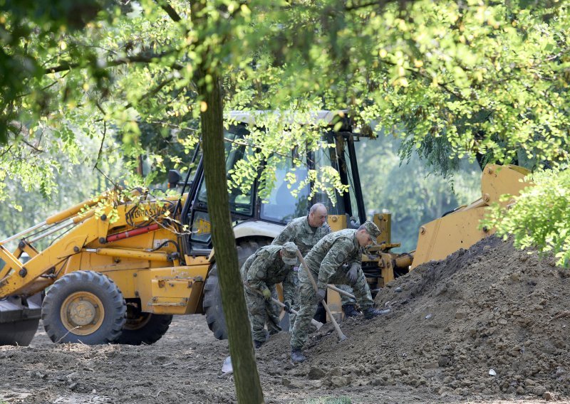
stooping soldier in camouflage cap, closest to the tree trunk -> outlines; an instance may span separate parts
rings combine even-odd
[[[298,264],[297,247],[294,243],[266,245],[244,262],[241,273],[246,285],[245,299],[256,348],[265,342],[265,324],[270,335],[281,331],[279,326],[281,309],[271,302],[271,297],[277,299],[275,285],[283,282],[284,299],[293,301],[295,293],[293,266]]]

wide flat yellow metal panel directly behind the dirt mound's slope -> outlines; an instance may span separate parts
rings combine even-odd
[[[418,247],[415,250],[412,268],[430,260],[442,260],[460,248],[470,248],[492,231],[479,230],[485,208],[452,213],[432,220],[420,228]]]

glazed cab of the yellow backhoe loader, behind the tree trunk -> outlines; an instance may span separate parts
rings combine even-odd
[[[259,115],[254,112],[231,112],[228,115],[227,118],[231,119],[233,124],[224,132],[224,137],[227,139],[224,169],[227,173],[240,160],[248,159],[257,152],[243,142],[249,134],[249,128],[256,125],[256,116]],[[309,183],[294,196],[291,191],[295,187],[290,187],[286,181],[286,174],[293,168],[294,151],[291,151],[291,155],[276,166],[276,181],[264,201],[259,195],[259,187],[262,185],[259,176],[249,189],[234,188],[229,191],[229,210],[232,214],[238,245],[240,240],[248,238],[255,238],[258,243],[260,240],[263,240],[264,244],[271,243],[286,223],[308,214],[309,207],[314,203],[323,203],[328,208],[328,222],[333,230],[358,227],[363,220],[366,220],[354,149],[354,142],[358,137],[352,132],[351,122],[346,117],[341,117],[338,113],[331,111],[317,112],[314,114],[314,119],[315,122],[309,123],[326,122],[327,126],[323,128],[322,140],[328,144],[334,144],[335,147],[309,152],[304,161],[306,166],[301,166],[295,171],[298,184],[306,180],[309,170],[331,166],[339,172],[342,184],[348,186],[349,191],[343,195],[337,192],[336,201],[331,201],[325,193],[316,193],[309,200],[313,185]],[[337,130],[334,130],[333,127],[337,122],[342,122],[342,125],[340,128],[337,125]],[[267,164],[267,161],[264,161],[264,164]],[[186,255],[209,255],[212,249],[211,225],[202,153],[199,149],[195,151],[190,166],[192,169],[187,174],[184,186],[184,191],[188,192],[188,198],[182,208],[181,218],[182,223],[188,225],[191,232],[184,236],[183,244]],[[227,175],[229,179],[230,174]]]

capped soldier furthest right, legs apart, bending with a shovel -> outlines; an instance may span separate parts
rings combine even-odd
[[[301,349],[307,340],[317,304],[325,297],[328,283],[352,285],[354,295],[366,319],[384,313],[374,309],[370,288],[361,269],[361,247],[375,243],[378,235],[380,235],[378,227],[371,221],[366,221],[358,230],[346,229],[326,235],[306,255],[305,261],[309,265],[318,291],[315,292],[306,268],[301,267],[299,270],[301,307],[291,335],[291,359],[294,362],[306,359]]]

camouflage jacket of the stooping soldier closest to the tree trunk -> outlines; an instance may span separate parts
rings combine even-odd
[[[242,280],[250,287],[263,291],[283,282],[284,302],[293,302],[295,285],[293,267],[281,260],[281,245],[266,245],[259,248],[244,262]]]

